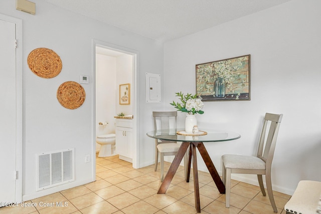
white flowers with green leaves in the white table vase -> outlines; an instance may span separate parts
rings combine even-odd
[[[187,112],[188,114],[203,114],[204,111],[202,111],[204,107],[204,103],[202,102],[201,97],[197,97],[197,95],[187,94],[184,96],[182,92],[175,93],[177,97],[181,97],[180,100],[182,102],[174,102],[170,103],[172,106],[175,106],[175,108],[178,109],[178,111]]]

